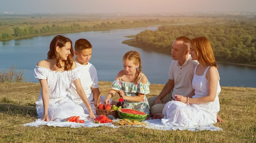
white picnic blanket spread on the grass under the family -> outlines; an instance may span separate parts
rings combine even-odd
[[[113,120],[117,121],[117,120]],[[211,130],[211,131],[221,131],[222,128],[216,127],[213,124],[208,126],[195,126],[195,127],[177,127],[177,126],[164,126],[161,122],[161,119],[148,119],[143,121],[146,123],[146,126],[139,125],[138,127],[144,127],[148,129],[155,130],[190,130],[190,131],[199,131],[199,130]],[[66,121],[42,121],[41,119],[36,119],[36,121],[24,124],[23,126],[29,127],[39,127],[39,126],[53,126],[53,127],[70,127],[70,128],[81,128],[81,127],[98,127],[98,126],[108,126],[112,128],[119,128],[122,126],[114,126],[112,123],[104,124],[94,124],[93,121],[85,119],[84,123],[74,123]]]

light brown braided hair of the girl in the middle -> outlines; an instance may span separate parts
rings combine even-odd
[[[138,69],[138,74],[135,78],[135,84],[139,82],[139,74],[141,72],[141,59],[140,59],[140,54],[137,51],[129,51],[126,52],[123,56],[123,61],[124,60],[130,60],[133,61],[135,65],[139,64],[139,69]]]

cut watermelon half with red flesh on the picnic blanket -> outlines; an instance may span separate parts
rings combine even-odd
[[[147,117],[147,114],[137,110],[121,108],[118,110],[118,116],[120,119],[144,121]]]

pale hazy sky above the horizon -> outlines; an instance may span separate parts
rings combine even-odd
[[[256,0],[0,0],[0,13],[256,11]]]

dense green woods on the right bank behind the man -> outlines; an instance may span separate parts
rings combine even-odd
[[[216,60],[256,65],[256,23],[166,25],[136,35],[138,45],[150,50],[171,53],[175,38],[204,36],[211,41]]]

